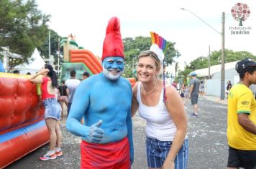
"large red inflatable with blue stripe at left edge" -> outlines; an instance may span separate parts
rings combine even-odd
[[[25,75],[0,72],[0,168],[48,143],[40,103]]]

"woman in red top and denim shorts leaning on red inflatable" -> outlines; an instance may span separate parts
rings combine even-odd
[[[40,74],[42,77],[36,78]],[[29,77],[29,81],[41,84],[42,103],[45,107],[45,123],[47,130],[50,132],[50,150],[40,157],[40,160],[52,160],[57,156],[63,155],[63,151],[60,148],[62,140],[60,130],[61,108],[55,95],[56,87],[58,87],[57,76],[52,66],[45,64],[45,67],[40,72]]]

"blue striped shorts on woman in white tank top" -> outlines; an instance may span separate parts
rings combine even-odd
[[[169,153],[172,141],[160,141],[155,138],[147,137],[147,165],[149,168],[160,168],[163,166]],[[174,160],[175,169],[186,169],[188,165],[188,139],[181,146]]]

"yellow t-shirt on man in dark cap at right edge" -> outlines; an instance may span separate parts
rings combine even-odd
[[[249,114],[256,125],[256,101],[252,91],[244,84],[235,84],[229,91],[227,140],[229,146],[239,150],[256,150],[256,135],[239,125],[239,113]]]

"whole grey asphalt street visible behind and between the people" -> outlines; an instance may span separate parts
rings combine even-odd
[[[186,103],[188,114],[188,141],[190,169],[219,169],[227,165],[227,102],[216,97],[199,97],[199,117],[190,117],[191,104]],[[133,117],[134,164],[132,169],[147,168],[145,155],[145,120],[135,115]],[[41,161],[49,145],[42,146],[24,158],[17,160],[7,168],[80,168],[81,139],[65,130],[65,120],[62,122],[64,155],[55,160]]]

